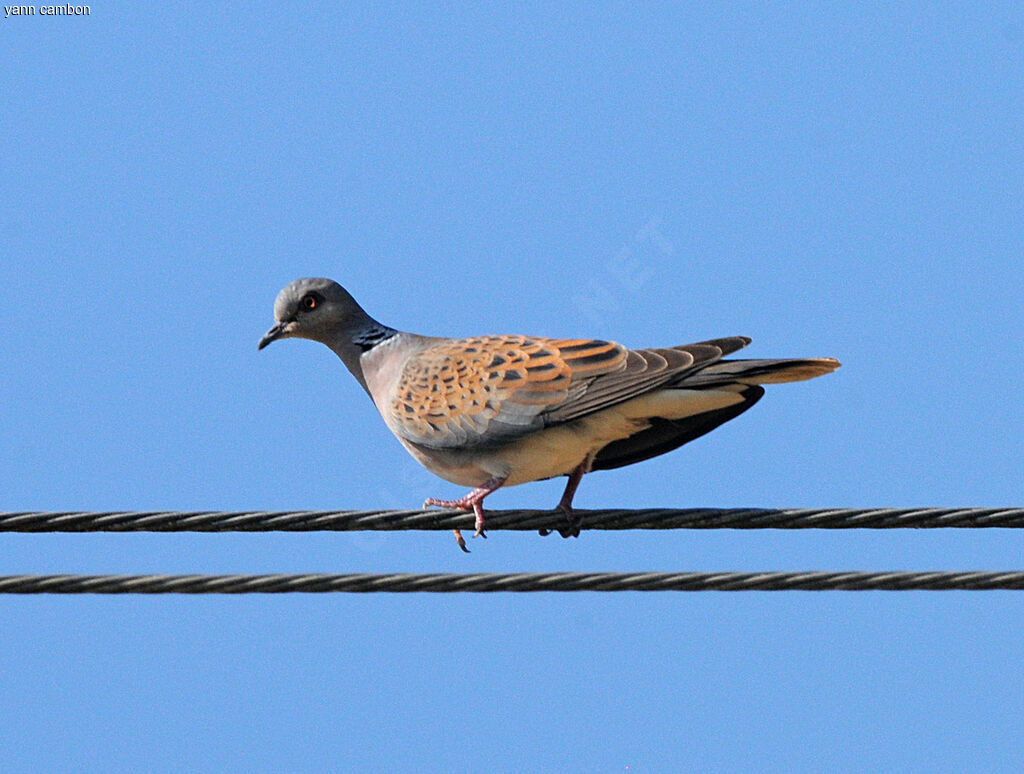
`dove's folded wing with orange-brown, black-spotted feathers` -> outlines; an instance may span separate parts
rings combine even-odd
[[[500,444],[629,400],[748,342],[630,350],[596,339],[450,339],[407,360],[385,410],[413,443]]]

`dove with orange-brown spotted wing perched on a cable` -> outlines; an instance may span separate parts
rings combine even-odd
[[[273,316],[258,348],[294,338],[326,344],[417,462],[472,487],[423,507],[471,510],[474,536],[484,538],[488,494],[556,476],[568,477],[558,531],[578,536],[572,499],[584,475],[698,438],[754,405],[763,385],[840,367],[833,357],[726,359],[751,343],[745,336],[649,349],[600,339],[420,336],[378,322],[325,277],[285,287]]]

